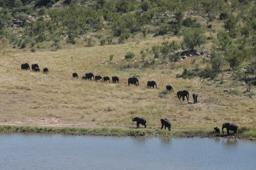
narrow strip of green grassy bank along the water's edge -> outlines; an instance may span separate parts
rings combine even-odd
[[[256,141],[256,130],[243,130],[229,136],[224,133],[216,134],[203,130],[168,131],[158,129],[125,129],[121,127],[39,127],[39,126],[14,126],[0,125],[0,133],[43,133],[62,134],[76,136],[134,136],[134,137],[181,137],[181,138],[227,138],[227,139],[248,139]]]

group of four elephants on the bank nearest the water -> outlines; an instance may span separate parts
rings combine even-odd
[[[145,128],[147,127],[146,123],[146,119],[145,117],[134,117],[133,119],[131,119],[133,122],[137,122],[137,128],[140,127],[140,124],[143,125]],[[160,119],[160,122],[162,124],[161,126],[161,130],[164,129],[166,130],[166,127],[168,128],[168,130],[171,130],[171,122],[168,119]],[[236,123],[224,123],[222,125],[222,134],[224,134],[224,128],[227,129],[227,135],[230,135],[229,131],[234,131],[233,134],[236,134],[236,131],[238,130],[238,125],[236,125]],[[221,133],[220,129],[218,127],[214,127],[214,132],[215,133]]]

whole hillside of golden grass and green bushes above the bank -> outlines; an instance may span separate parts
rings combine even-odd
[[[1,125],[126,129],[144,116],[147,131],[167,118],[180,133],[212,131],[223,122],[254,133],[253,1],[0,0],[0,6]],[[49,74],[20,71],[24,62]],[[116,75],[120,83],[84,81],[86,72]],[[131,76],[139,87],[127,86]],[[157,89],[146,88],[149,79]],[[167,84],[198,93],[198,104],[179,101]]]

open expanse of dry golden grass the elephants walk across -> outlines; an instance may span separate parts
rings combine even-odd
[[[167,40],[177,39],[171,37]],[[120,69],[126,52],[132,51],[140,59],[140,50],[159,45],[163,37],[129,41],[124,45],[68,46],[59,51],[31,53],[14,50],[1,54],[0,63],[0,124],[78,127],[136,127],[131,119],[143,116],[147,128],[160,128],[160,119],[167,118],[175,130],[213,130],[224,122],[236,122],[239,127],[255,127],[255,99],[244,94],[241,82],[177,79],[182,67],[192,67],[191,61],[158,65],[156,68]],[[113,62],[108,61],[114,54]],[[196,63],[201,62],[197,58]],[[21,71],[21,63],[38,63],[49,74]],[[131,63],[131,62],[130,62]],[[135,62],[134,65],[140,65]],[[181,65],[181,66],[179,66]],[[172,70],[172,68],[177,68]],[[79,78],[72,78],[72,73]],[[120,83],[82,80],[86,72],[102,77],[119,76]],[[140,76],[139,86],[128,86],[128,77]],[[157,89],[148,89],[148,80],[157,82]],[[211,82],[213,85],[207,85]],[[173,85],[175,93],[160,98],[166,85]],[[223,90],[234,88],[239,94],[221,96]],[[188,104],[176,98],[178,90],[188,89],[189,101],[198,93],[198,104]],[[252,88],[253,89],[253,88]],[[253,91],[253,90],[252,90]]]

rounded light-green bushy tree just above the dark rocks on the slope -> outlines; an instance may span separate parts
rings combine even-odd
[[[200,28],[189,28],[183,33],[183,41],[187,48],[194,50],[196,46],[206,43],[207,37]]]

